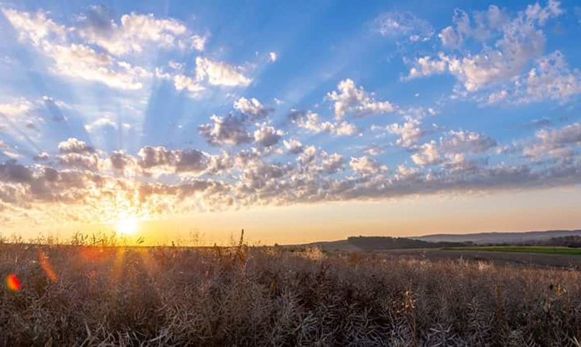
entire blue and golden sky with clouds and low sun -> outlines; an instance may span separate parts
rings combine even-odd
[[[581,228],[578,2],[0,0],[0,32],[3,235]]]

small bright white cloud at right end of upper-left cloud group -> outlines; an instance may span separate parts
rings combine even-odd
[[[243,75],[242,67],[234,67],[228,63],[218,62],[198,56],[196,58],[196,78],[212,85],[224,87],[246,87],[252,79]]]

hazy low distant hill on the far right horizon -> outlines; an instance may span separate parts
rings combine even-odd
[[[551,238],[581,236],[581,230],[547,230],[525,232],[477,232],[475,234],[433,234],[412,239],[428,242],[473,242],[483,244],[515,244],[543,241]]]

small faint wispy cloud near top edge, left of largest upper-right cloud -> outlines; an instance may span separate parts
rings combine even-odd
[[[372,30],[384,37],[406,37],[409,41],[428,41],[434,30],[429,22],[410,12],[386,12],[375,18]]]

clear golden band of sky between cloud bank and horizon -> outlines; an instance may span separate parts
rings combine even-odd
[[[143,237],[145,244],[227,245],[242,228],[250,244],[297,244],[344,239],[356,235],[393,237],[425,234],[460,234],[487,231],[532,231],[581,228],[581,187],[491,194],[427,195],[390,201],[333,202],[313,205],[242,208],[223,212],[191,213],[139,220],[130,239]],[[123,219],[120,220],[123,222]],[[66,239],[74,231],[111,232],[110,224],[74,223],[55,228],[33,227],[18,232],[23,237],[58,235]],[[123,231],[120,231],[121,234]]]

